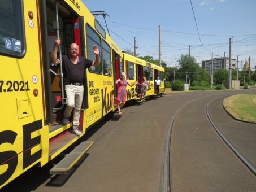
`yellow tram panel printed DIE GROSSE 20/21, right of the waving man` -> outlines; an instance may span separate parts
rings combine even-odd
[[[86,24],[89,24],[96,32],[95,29],[95,18],[90,13],[90,11],[83,5],[77,1],[78,4],[76,6],[73,5],[71,1],[66,1],[74,10],[76,10],[79,15],[84,16],[85,21],[85,45],[86,45]],[[77,6],[78,5],[78,6]],[[78,10],[78,8],[80,10]],[[98,33],[98,32],[97,32]],[[100,33],[98,33],[101,36]],[[105,116],[107,113],[114,110],[114,63],[112,55],[112,50],[114,50],[118,54],[122,54],[122,51],[119,47],[115,44],[115,42],[111,39],[109,34],[106,33],[106,38],[101,38],[110,46],[110,54],[111,54],[111,72],[110,76],[104,74],[98,74],[90,72],[89,69],[87,70],[87,88],[88,90],[88,108],[84,111],[84,125],[83,127],[86,129],[90,125],[96,123],[99,119]],[[88,48],[90,50],[90,47]],[[87,54],[87,52],[86,52]],[[88,55],[86,55],[88,57]],[[101,63],[103,61],[101,60]]]

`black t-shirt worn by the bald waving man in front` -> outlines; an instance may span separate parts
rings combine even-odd
[[[85,78],[85,69],[92,66],[92,60],[79,56],[79,62],[73,64],[67,55],[62,56],[63,81],[83,83]]]

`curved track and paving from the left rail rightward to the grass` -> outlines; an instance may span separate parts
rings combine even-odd
[[[222,108],[223,99],[236,93],[240,91],[214,92],[194,99],[175,116],[170,125],[171,191],[255,191],[256,126],[232,119]],[[234,146],[244,161],[228,148]]]

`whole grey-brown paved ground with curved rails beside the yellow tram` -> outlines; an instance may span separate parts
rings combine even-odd
[[[224,97],[245,92],[255,90],[170,93],[127,104],[120,119],[102,120],[85,134],[82,140],[94,146],[71,174],[50,176],[46,165],[2,191],[256,191],[255,174],[206,114],[208,103],[214,124],[254,163],[254,129],[235,128],[240,123],[233,124],[220,106]]]

